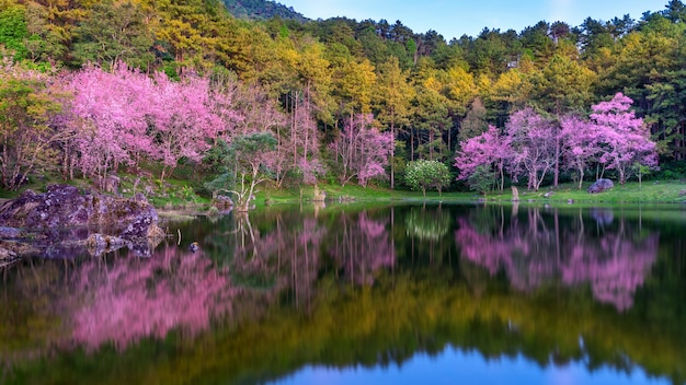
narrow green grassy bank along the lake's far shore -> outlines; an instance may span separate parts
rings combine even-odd
[[[52,183],[60,180],[41,180],[25,186],[22,190],[31,188],[35,191],[44,191]],[[81,179],[71,182],[79,188],[94,188],[90,183]],[[630,182],[626,185],[615,185],[611,190],[601,194],[588,194],[586,189],[591,182],[584,183],[582,189],[576,185],[563,184],[557,188],[544,187],[539,191],[526,191],[519,187],[521,202],[549,202],[549,203],[686,203],[686,183],[682,180],[649,182],[639,185]],[[118,192],[123,196],[133,196],[135,192],[144,192],[152,205],[159,209],[198,209],[207,207],[210,198],[207,191],[202,191],[201,184],[194,179],[167,179],[160,182],[155,178],[140,178],[132,175],[122,175]],[[428,191],[426,197],[420,191],[391,190],[379,186],[362,187],[353,184],[340,186],[338,184],[319,184],[317,186],[327,195],[327,201],[512,201],[512,189],[503,191],[490,191],[485,196],[473,191],[443,192]],[[0,191],[0,198],[15,198],[21,191]],[[256,194],[258,207],[311,201],[315,197],[315,186],[295,186],[289,188],[276,188],[268,184],[261,185]]]

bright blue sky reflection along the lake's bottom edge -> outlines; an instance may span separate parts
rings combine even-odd
[[[338,370],[307,366],[277,384],[336,385],[336,384],[670,384],[665,378],[650,378],[642,370],[631,374],[609,368],[590,373],[583,363],[541,368],[522,355],[489,360],[473,352],[446,349],[437,357],[416,354],[401,368],[363,366]]]

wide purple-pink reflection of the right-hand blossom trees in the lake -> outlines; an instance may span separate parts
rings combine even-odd
[[[624,225],[616,233],[606,231],[602,238],[560,234],[559,229],[547,229],[533,217],[528,226],[514,222],[495,233],[479,232],[460,220],[455,236],[462,258],[483,266],[491,275],[504,270],[519,290],[535,289],[560,277],[568,285],[590,283],[598,301],[620,311],[631,306],[632,294],[655,261],[656,236],[636,242],[625,234]]]

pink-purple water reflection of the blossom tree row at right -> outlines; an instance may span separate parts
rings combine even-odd
[[[598,301],[619,311],[631,307],[633,293],[658,257],[656,233],[624,218],[613,223],[609,209],[590,211],[596,225],[587,223],[581,212],[571,222],[562,222],[557,210],[529,208],[525,219],[517,211],[515,207],[507,215],[501,207],[460,218],[455,238],[462,256],[491,275],[504,270],[519,290],[556,280],[568,285],[590,284]],[[483,220],[475,217],[492,217],[493,212],[500,220],[479,229]]]

